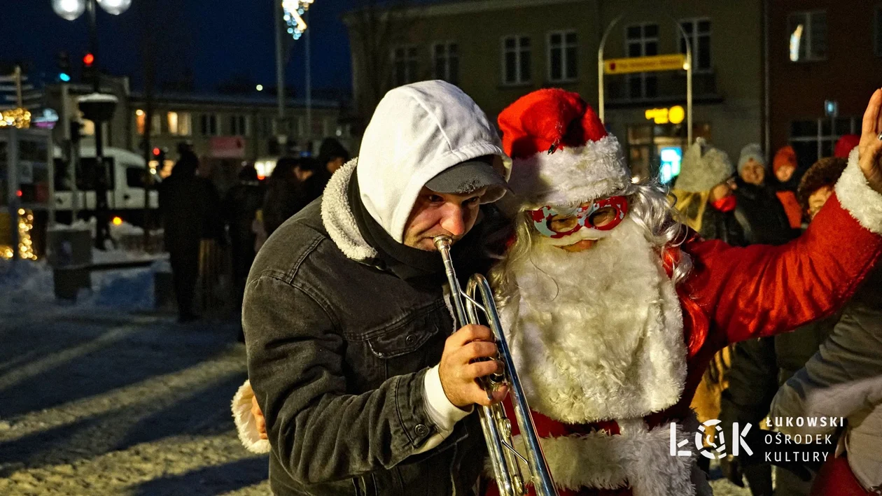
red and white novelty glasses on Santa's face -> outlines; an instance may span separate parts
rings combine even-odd
[[[569,237],[582,229],[597,234],[595,239],[602,238],[602,233],[621,224],[627,213],[628,198],[625,196],[610,196],[569,210],[544,206],[529,211],[536,231],[552,240]],[[590,234],[582,237],[591,239]]]

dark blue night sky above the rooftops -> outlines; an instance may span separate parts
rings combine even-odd
[[[139,47],[145,15],[138,3],[144,1],[133,0],[131,10],[118,17],[101,10],[98,14],[101,66],[131,76],[136,89],[143,80]],[[162,40],[158,78],[175,78],[189,68],[198,91],[213,91],[235,77],[275,85],[272,4],[276,1],[153,0],[157,5],[153,19]],[[314,90],[350,89],[349,41],[340,17],[356,2],[316,0],[310,9]],[[31,77],[47,81],[56,77],[59,51],[67,50],[71,64],[79,66],[87,47],[85,15],[73,22],[64,20],[52,11],[50,0],[4,0],[4,4],[0,61],[33,63]],[[292,48],[286,80],[303,94],[303,38],[292,41]]]

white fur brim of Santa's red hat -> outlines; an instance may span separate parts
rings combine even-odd
[[[520,210],[543,205],[576,205],[612,196],[631,183],[616,137],[607,136],[585,146],[564,147],[549,154],[515,159],[509,187]]]

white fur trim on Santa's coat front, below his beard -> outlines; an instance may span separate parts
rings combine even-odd
[[[631,485],[634,496],[692,496],[696,494],[692,471],[696,455],[670,455],[670,426],[648,430],[642,419],[619,422],[621,434],[594,432],[587,435],[542,438],[542,452],[551,477],[560,489],[581,487],[616,489]],[[676,426],[676,440],[692,440],[695,429]],[[524,455],[520,436],[514,446]],[[519,461],[521,473],[527,465]],[[485,471],[492,477],[492,468]],[[706,482],[704,483],[706,485]],[[705,493],[705,492],[699,492]]]

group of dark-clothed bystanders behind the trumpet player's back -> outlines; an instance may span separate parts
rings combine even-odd
[[[258,249],[285,220],[321,196],[331,174],[349,158],[343,145],[329,137],[317,157],[278,159],[265,181],[258,179],[253,164],[243,165],[235,184],[221,197],[213,182],[199,174],[198,157],[188,146],[180,146],[178,155],[160,186],[160,214],[180,322],[198,318],[194,298],[200,256],[206,258],[217,246],[229,248],[233,300],[241,307]]]

